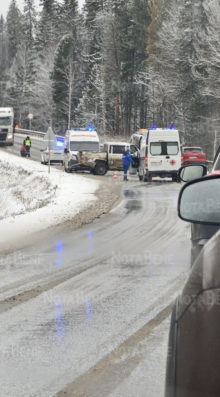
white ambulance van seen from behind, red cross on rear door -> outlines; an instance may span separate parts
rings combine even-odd
[[[150,182],[153,176],[178,180],[181,163],[182,142],[177,129],[152,127],[143,133],[138,172],[140,180]]]

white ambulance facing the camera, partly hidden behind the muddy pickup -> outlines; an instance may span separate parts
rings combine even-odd
[[[99,137],[92,127],[67,129],[64,138],[64,171],[90,171],[77,161],[78,152],[100,152]]]

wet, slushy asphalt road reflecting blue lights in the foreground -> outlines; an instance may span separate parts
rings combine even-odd
[[[1,258],[0,299],[17,304],[0,311],[1,395],[163,396],[170,303],[190,270],[180,187],[132,177],[101,219]]]

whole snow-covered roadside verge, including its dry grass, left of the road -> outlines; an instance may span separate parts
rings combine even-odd
[[[0,150],[0,251],[31,233],[54,229],[96,200],[99,182]]]

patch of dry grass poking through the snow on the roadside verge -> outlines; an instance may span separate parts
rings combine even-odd
[[[0,175],[0,220],[42,208],[55,196],[56,186],[36,171],[0,160]]]

